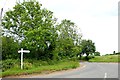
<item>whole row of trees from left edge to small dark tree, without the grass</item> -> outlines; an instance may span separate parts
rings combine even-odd
[[[64,19],[58,23],[53,12],[35,0],[17,3],[5,13],[2,25],[4,59],[8,55],[14,58],[14,53],[19,57],[17,50],[21,47],[31,51],[25,58],[39,60],[69,59],[80,52],[87,56],[95,52],[92,40],[81,40],[74,22]]]

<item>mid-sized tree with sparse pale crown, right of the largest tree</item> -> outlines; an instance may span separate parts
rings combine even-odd
[[[60,58],[72,58],[76,56],[80,48],[78,47],[78,33],[76,31],[77,26],[74,22],[70,20],[62,20],[59,25],[57,25],[57,46],[56,50],[59,50],[58,55]]]

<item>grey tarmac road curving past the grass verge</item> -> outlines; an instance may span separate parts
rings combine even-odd
[[[118,63],[82,62],[82,68],[32,76],[31,78],[118,78]]]

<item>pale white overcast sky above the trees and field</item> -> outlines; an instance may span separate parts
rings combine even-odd
[[[4,12],[19,0],[0,0]],[[21,1],[21,0],[20,0]],[[82,39],[91,39],[101,55],[118,52],[118,2],[120,0],[37,0],[51,10],[58,21],[74,22]]]

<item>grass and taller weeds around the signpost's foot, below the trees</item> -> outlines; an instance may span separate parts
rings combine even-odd
[[[25,60],[23,70],[20,69],[20,64],[18,63],[15,64],[13,67],[2,72],[2,77],[11,76],[11,75],[13,76],[13,75],[26,75],[32,73],[42,73],[44,71],[53,72],[53,71],[67,70],[79,66],[79,62],[77,61],[64,60],[64,61],[56,61],[56,62],[50,61],[50,62]]]

